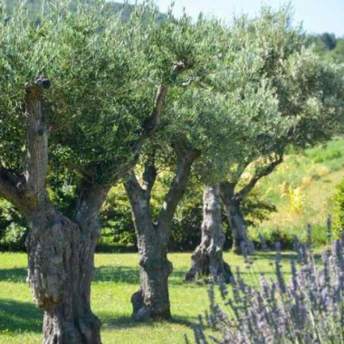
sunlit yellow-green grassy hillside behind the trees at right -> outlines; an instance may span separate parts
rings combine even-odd
[[[277,207],[258,228],[250,228],[253,239],[259,233],[272,232],[292,238],[306,238],[306,225],[313,227],[313,240],[326,244],[326,219],[332,214],[335,186],[344,178],[344,139],[330,141],[324,147],[292,154],[259,184],[264,199]]]

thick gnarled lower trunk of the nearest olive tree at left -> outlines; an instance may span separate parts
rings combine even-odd
[[[104,195],[98,195],[101,203]],[[43,344],[101,343],[100,320],[90,304],[99,209],[83,203],[93,214],[81,211],[80,223],[48,202],[30,215],[28,282],[36,305],[44,311]]]

